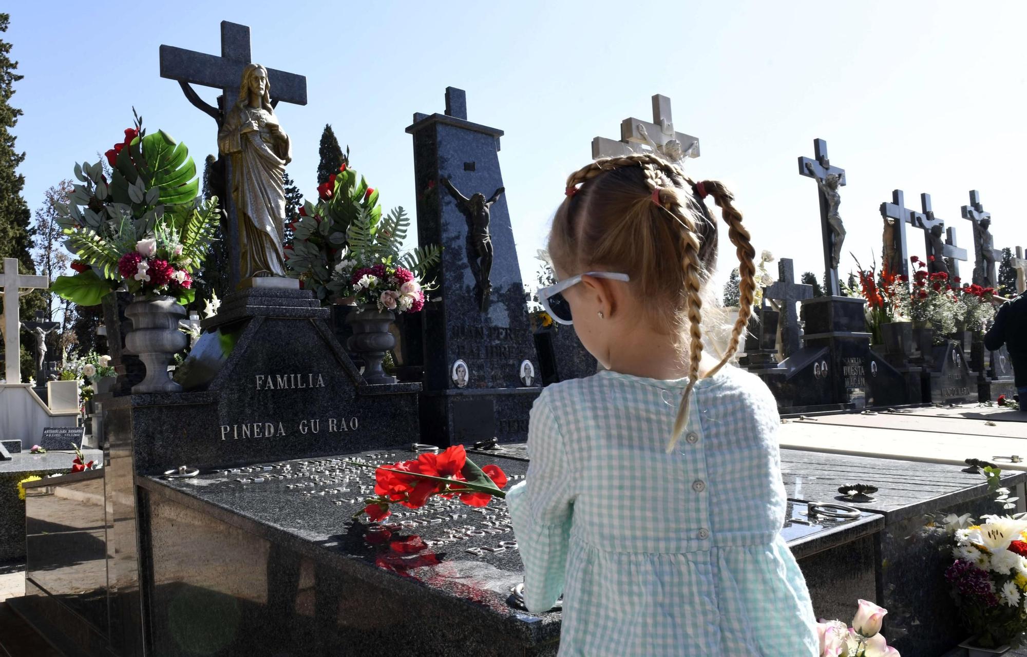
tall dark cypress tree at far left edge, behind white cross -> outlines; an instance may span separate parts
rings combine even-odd
[[[7,31],[10,14],[0,13],[0,33]],[[22,110],[11,107],[10,98],[14,94],[14,82],[23,76],[16,74],[17,62],[10,59],[11,44],[0,39],[0,259],[14,258],[17,260],[20,273],[35,273],[32,261],[32,212],[28,203],[22,198],[25,187],[25,177],[17,172],[17,166],[25,159],[25,153],[18,153],[14,147],[14,136],[10,130],[22,116]],[[4,299],[15,298],[4,296]],[[0,300],[0,303],[3,303]],[[45,310],[43,296],[33,292],[21,301],[21,316],[31,319],[37,310]],[[22,377],[33,376],[35,365],[32,353],[35,341],[28,332],[22,332]],[[11,382],[14,383],[14,382]]]

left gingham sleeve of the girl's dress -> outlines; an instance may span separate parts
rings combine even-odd
[[[553,410],[540,397],[528,426],[528,476],[506,495],[524,562],[524,602],[540,614],[564,589],[567,547],[574,515],[570,462]]]

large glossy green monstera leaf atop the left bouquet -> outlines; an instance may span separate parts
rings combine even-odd
[[[138,202],[129,193],[137,180],[142,180],[146,189],[158,189],[157,202],[162,205],[192,203],[199,194],[196,163],[189,149],[163,130],[136,138],[121,149],[111,179],[116,203]]]

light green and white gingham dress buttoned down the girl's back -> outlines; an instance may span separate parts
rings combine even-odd
[[[525,603],[564,594],[561,657],[816,657],[773,396],[734,368],[700,380],[667,454],[686,384],[601,372],[542,391],[506,496]]]

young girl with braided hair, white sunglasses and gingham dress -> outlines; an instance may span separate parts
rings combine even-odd
[[[740,311],[702,351],[721,207]],[[786,498],[767,387],[724,364],[752,310],[754,250],[724,186],[655,155],[571,175],[540,291],[607,371],[542,391],[527,480],[506,497],[525,603],[564,594],[560,655],[816,657],[813,611],[779,532]]]

